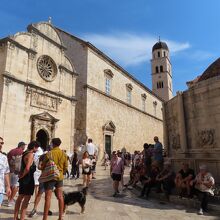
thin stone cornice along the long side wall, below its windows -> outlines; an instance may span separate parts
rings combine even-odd
[[[148,116],[150,116],[150,117],[152,117],[152,118],[154,118],[154,119],[156,119],[156,120],[158,120],[158,121],[163,122],[162,119],[157,118],[157,117],[155,117],[154,115],[151,115],[151,114],[149,114],[149,113],[147,113],[147,112],[144,112],[144,111],[142,111],[142,110],[140,110],[140,109],[138,109],[138,108],[136,108],[136,107],[134,107],[134,106],[132,106],[132,105],[130,105],[130,104],[128,104],[128,103],[126,103],[126,102],[120,100],[120,99],[118,99],[118,98],[115,98],[115,97],[113,97],[113,96],[111,96],[111,95],[107,95],[107,94],[105,94],[104,92],[100,91],[99,89],[96,89],[96,88],[94,88],[94,87],[92,87],[92,86],[90,86],[90,85],[88,85],[88,84],[85,85],[84,88],[85,88],[85,89],[87,89],[87,88],[88,88],[88,89],[91,89],[92,91],[95,91],[95,92],[97,92],[97,93],[99,93],[99,94],[101,94],[101,95],[103,95],[103,96],[105,96],[105,97],[107,97],[107,98],[110,98],[110,99],[112,99],[112,100],[114,100],[114,101],[116,101],[116,102],[119,102],[119,103],[121,103],[121,104],[123,104],[123,105],[126,105],[126,106],[128,106],[128,107],[130,107],[130,108],[136,110],[136,111],[139,111],[139,112],[141,112],[141,113],[143,113],[143,114],[145,114],[145,115],[148,115]]]

